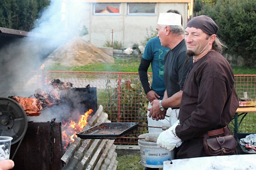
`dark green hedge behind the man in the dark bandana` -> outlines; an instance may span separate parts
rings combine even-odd
[[[228,46],[227,52],[245,59],[245,66],[256,62],[256,1],[218,0],[205,4],[201,15],[210,16],[219,26],[218,36]]]

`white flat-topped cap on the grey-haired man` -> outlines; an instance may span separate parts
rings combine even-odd
[[[157,24],[182,26],[181,15],[172,12],[159,13]]]

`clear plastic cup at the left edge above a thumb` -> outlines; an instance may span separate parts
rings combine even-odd
[[[10,158],[12,137],[0,136],[0,161]]]

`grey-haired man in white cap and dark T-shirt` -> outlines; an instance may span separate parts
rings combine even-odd
[[[180,100],[184,81],[192,60],[184,65],[188,58],[184,40],[184,28],[181,25],[181,15],[178,13],[160,13],[158,18],[158,34],[161,45],[171,50],[164,58],[164,83],[166,90],[163,100],[154,100],[151,105],[149,117],[153,120],[164,119],[166,110],[172,108],[171,122],[178,120]],[[183,73],[182,73],[183,71]]]

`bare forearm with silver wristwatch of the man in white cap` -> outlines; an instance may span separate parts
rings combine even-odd
[[[166,92],[166,91],[165,91]],[[164,95],[165,95],[164,92]],[[162,106],[164,108],[170,108],[170,107],[180,107],[180,101],[181,101],[181,96],[182,96],[182,90],[180,90],[179,92],[175,93],[174,95],[172,95],[171,97],[168,98],[163,98],[162,101]],[[167,95],[166,95],[167,96]]]

